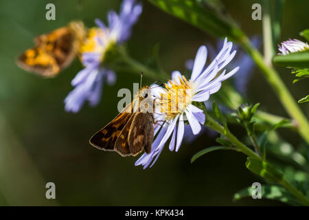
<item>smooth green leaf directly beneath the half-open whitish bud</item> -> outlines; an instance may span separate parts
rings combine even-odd
[[[309,68],[309,51],[276,55],[273,57],[273,63],[284,67]]]

